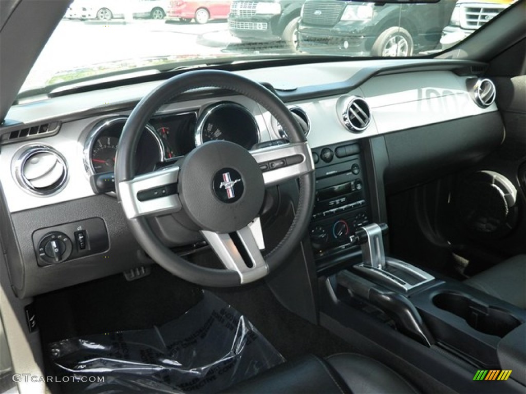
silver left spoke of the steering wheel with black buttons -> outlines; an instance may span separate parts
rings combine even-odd
[[[179,166],[171,165],[118,184],[119,198],[128,219],[180,211],[177,193]]]

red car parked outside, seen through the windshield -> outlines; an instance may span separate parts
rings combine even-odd
[[[230,13],[231,0],[171,0],[168,18],[179,18],[185,22],[191,19],[199,24],[210,19],[226,19]]]

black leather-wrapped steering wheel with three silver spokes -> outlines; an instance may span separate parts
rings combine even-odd
[[[247,151],[228,141],[206,142],[177,163],[135,176],[134,156],[141,130],[167,101],[197,88],[220,88],[266,108],[287,132],[289,143]],[[259,211],[265,188],[299,179],[294,220],[265,257]],[[117,195],[131,232],[146,253],[167,271],[202,286],[230,287],[254,282],[284,262],[304,236],[314,201],[314,164],[308,143],[284,103],[264,86],[227,71],[197,70],[166,80],[131,112],[115,162]],[[184,214],[226,269],[192,264],[170,251],[151,230],[147,217]]]

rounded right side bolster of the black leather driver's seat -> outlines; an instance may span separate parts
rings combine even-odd
[[[355,394],[418,392],[395,371],[369,357],[342,353],[328,357],[327,362]]]

